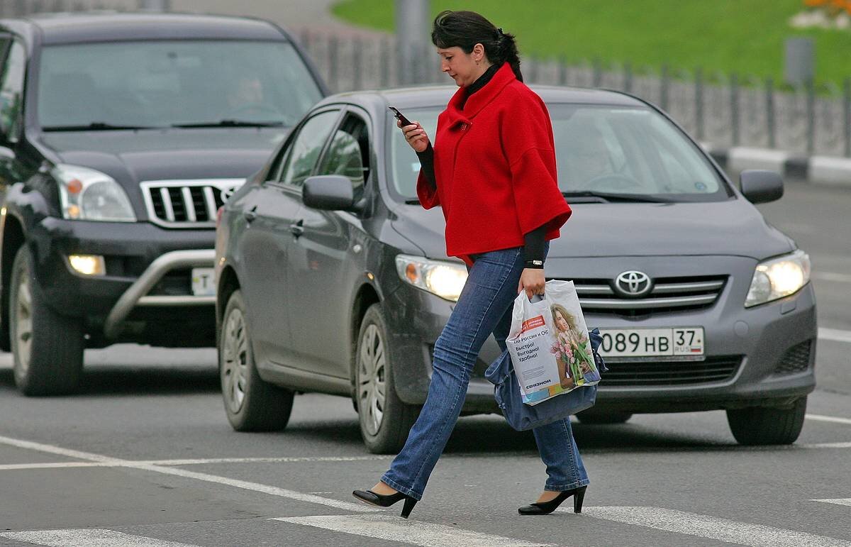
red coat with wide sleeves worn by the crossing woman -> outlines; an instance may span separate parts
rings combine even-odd
[[[524,245],[546,225],[555,239],[571,210],[558,189],[552,125],[544,101],[505,63],[459,110],[455,92],[437,118],[433,141],[437,192],[420,171],[417,195],[443,207],[446,254],[459,256]]]

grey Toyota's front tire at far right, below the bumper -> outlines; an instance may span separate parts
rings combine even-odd
[[[727,411],[730,431],[741,445],[791,445],[801,434],[807,397],[788,408],[751,406]]]

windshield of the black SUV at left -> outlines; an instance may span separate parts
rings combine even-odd
[[[320,98],[286,42],[180,40],[45,47],[44,130],[243,122],[294,125]]]

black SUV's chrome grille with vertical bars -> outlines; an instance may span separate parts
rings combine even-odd
[[[216,210],[244,179],[141,183],[148,218],[163,227],[214,227]]]

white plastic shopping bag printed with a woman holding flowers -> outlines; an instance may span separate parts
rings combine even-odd
[[[573,281],[547,281],[534,300],[517,295],[505,346],[527,405],[600,381]]]

